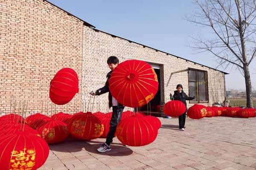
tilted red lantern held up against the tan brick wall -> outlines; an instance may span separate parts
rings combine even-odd
[[[62,68],[50,82],[49,96],[56,105],[65,105],[79,92],[79,80],[71,68]]]

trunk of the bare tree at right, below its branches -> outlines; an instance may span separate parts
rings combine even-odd
[[[246,87],[246,107],[253,108],[253,89],[250,80],[249,66],[244,64],[244,78],[245,78],[245,87]]]

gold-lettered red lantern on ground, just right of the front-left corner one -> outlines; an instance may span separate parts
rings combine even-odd
[[[48,144],[62,142],[69,136],[67,124],[53,119],[41,125],[38,132]]]

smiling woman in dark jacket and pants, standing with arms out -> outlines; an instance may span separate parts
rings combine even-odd
[[[195,99],[195,96],[189,97],[186,95],[186,93],[183,91],[182,85],[177,85],[176,87],[177,91],[174,91],[173,99],[179,100],[183,102],[186,106],[186,100],[193,100]],[[186,109],[187,111],[187,109]],[[184,130],[185,126],[185,120],[186,120],[186,111],[182,115],[179,116],[179,128],[180,130]]]

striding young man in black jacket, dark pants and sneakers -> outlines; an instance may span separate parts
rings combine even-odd
[[[94,95],[99,96],[101,94],[105,94],[105,93],[109,92],[108,93],[108,105],[109,105],[109,108],[112,107],[112,109],[113,109],[107,139],[106,139],[106,142],[104,144],[102,144],[102,146],[97,149],[99,152],[106,152],[106,151],[111,150],[110,144],[113,142],[113,137],[115,136],[115,133],[116,133],[116,126],[120,122],[121,117],[122,117],[122,111],[125,108],[124,105],[122,105],[116,101],[116,99],[111,95],[111,93],[109,91],[109,82],[108,81],[111,77],[111,73],[119,64],[119,59],[115,56],[111,56],[111,57],[108,57],[107,63],[108,63],[108,67],[111,69],[111,71],[107,74],[107,81],[105,82],[105,86],[102,88],[99,88],[98,90],[96,90],[96,92],[94,92],[94,91],[90,92],[90,94],[93,96]]]

